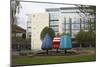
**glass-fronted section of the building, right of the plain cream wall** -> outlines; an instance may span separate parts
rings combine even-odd
[[[48,8],[46,12],[49,13],[49,27],[55,33],[70,33],[72,38],[80,29],[88,29],[89,20],[94,21],[93,15],[85,16],[78,7]]]

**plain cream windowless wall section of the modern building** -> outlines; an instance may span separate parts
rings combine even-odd
[[[32,50],[41,50],[42,42],[40,40],[40,33],[46,26],[49,26],[49,14],[34,13],[32,16],[32,38],[31,38]]]

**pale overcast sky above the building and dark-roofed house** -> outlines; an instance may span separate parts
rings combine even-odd
[[[46,8],[75,7],[74,5],[33,3],[33,2],[20,2],[20,5],[21,5],[20,13],[16,14],[18,18],[17,24],[24,29],[27,28],[28,14],[45,12]]]

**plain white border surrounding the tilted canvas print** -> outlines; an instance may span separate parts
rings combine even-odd
[[[97,13],[100,13],[99,0],[34,0],[46,1],[56,3],[71,3],[71,4],[85,4],[85,5],[98,5]],[[97,62],[84,62],[84,63],[68,63],[68,64],[53,64],[53,65],[39,65],[34,67],[99,67],[100,57],[100,42],[99,42],[99,22],[100,15],[97,14]],[[0,0],[0,67],[10,67],[10,0]],[[26,66],[33,67],[33,66]]]

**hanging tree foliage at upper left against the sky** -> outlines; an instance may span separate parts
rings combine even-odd
[[[20,1],[18,0],[11,0],[11,31],[14,35],[16,35],[16,27],[15,25],[17,24],[17,18],[16,14],[19,13],[19,9],[20,9],[21,5],[20,5]]]

